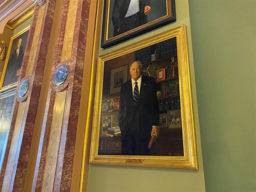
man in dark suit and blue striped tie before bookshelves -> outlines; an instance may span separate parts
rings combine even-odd
[[[131,79],[121,86],[119,127],[123,155],[149,155],[151,136],[159,135],[156,82],[141,76],[141,62],[130,66]]]

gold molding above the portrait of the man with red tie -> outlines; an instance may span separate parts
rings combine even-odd
[[[33,11],[34,11],[34,6],[35,4],[31,4],[30,6],[28,6],[25,10],[23,10],[21,13],[19,13],[18,15],[16,15],[15,17],[13,17],[12,19],[10,19],[7,23],[6,23],[6,27],[9,29],[15,29],[17,26],[21,25],[22,23],[24,23],[26,20],[28,20],[30,17],[32,17],[33,15]]]

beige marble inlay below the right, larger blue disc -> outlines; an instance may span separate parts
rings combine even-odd
[[[52,113],[52,124],[47,149],[42,191],[54,189],[55,167],[58,160],[58,150],[63,125],[64,109],[67,90],[55,93],[55,102]]]

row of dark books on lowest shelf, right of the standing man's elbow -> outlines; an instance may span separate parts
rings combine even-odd
[[[166,113],[168,110],[180,109],[180,99],[166,99],[158,102],[159,113]]]

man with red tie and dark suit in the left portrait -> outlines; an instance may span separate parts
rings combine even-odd
[[[10,61],[6,67],[6,72],[3,80],[3,87],[9,85],[10,83],[15,83],[18,81],[20,67],[23,60],[24,50],[21,47],[22,39],[17,42],[17,49],[13,51]]]

